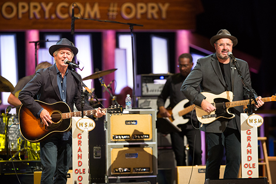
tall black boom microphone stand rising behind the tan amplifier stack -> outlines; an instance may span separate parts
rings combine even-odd
[[[133,103],[132,104],[133,104],[133,107],[137,107],[136,94],[135,94],[135,89],[136,89],[136,62],[135,62],[135,49],[134,49],[135,40],[134,40],[134,34],[133,34],[133,27],[134,26],[141,26],[141,27],[143,27],[143,25],[141,25],[141,24],[133,24],[133,23],[118,22],[118,21],[114,21],[114,20],[98,20],[98,19],[93,19],[93,18],[83,18],[83,17],[75,17],[75,16],[74,16],[74,18],[75,19],[83,19],[83,20],[94,20],[94,21],[98,21],[98,22],[108,22],[108,23],[129,25],[129,29],[130,29],[130,33],[131,33],[132,69],[133,69],[133,89],[132,89],[132,101],[133,101]],[[116,100],[115,100],[115,102],[116,102]]]

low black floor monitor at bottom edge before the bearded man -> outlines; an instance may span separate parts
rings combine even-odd
[[[206,179],[204,184],[268,184],[267,178]]]

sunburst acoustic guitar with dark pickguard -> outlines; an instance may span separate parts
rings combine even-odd
[[[22,136],[30,142],[41,142],[50,135],[70,131],[72,127],[72,117],[81,117],[81,111],[71,112],[70,107],[64,102],[57,102],[54,104],[47,104],[38,100],[43,108],[45,108],[50,116],[51,122],[49,126],[44,125],[40,118],[35,118],[31,111],[25,106],[21,106],[18,112],[20,131]],[[122,106],[115,106],[101,109],[108,113],[122,113]],[[96,113],[96,110],[84,110],[83,115],[89,116]]]

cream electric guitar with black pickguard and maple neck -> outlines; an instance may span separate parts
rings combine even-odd
[[[215,111],[207,113],[201,107],[196,106],[197,118],[199,122],[203,124],[212,123],[219,118],[232,119],[235,117],[235,114],[230,113],[229,108],[249,104],[249,100],[240,100],[232,102],[232,92],[222,92],[217,95],[210,92],[201,92],[201,94],[203,94],[206,97],[205,100],[210,102],[216,108]],[[263,102],[276,101],[276,96],[273,95],[272,97],[261,98],[261,100]],[[255,104],[254,101],[252,101],[252,103]]]

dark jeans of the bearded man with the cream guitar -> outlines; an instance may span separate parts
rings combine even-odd
[[[241,134],[226,128],[223,133],[205,133],[208,145],[205,179],[219,179],[219,169],[225,148],[225,179],[237,178],[241,163]]]

